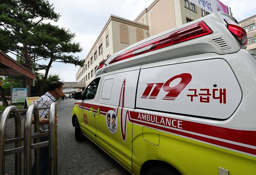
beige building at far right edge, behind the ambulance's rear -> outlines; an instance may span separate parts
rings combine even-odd
[[[247,50],[253,50],[256,52],[256,15],[247,17],[242,21],[239,21],[239,24],[247,33]]]

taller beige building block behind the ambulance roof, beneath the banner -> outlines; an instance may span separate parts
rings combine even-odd
[[[149,26],[149,36],[209,14],[188,0],[155,0],[134,20]]]

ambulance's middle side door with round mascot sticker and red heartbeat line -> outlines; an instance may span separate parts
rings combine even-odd
[[[106,73],[103,76],[98,100],[100,114],[95,116],[98,145],[130,172],[132,118],[139,68]]]

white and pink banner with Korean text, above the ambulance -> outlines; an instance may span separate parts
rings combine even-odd
[[[212,12],[223,12],[228,14],[228,6],[224,5],[219,0],[189,0],[203,10]]]

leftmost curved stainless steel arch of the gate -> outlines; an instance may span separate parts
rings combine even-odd
[[[5,129],[11,112],[14,113],[15,138],[21,137],[21,116],[18,112],[14,112],[15,110],[18,110],[16,106],[8,106],[0,116],[0,175],[4,175],[5,170]],[[21,147],[21,140],[15,143],[15,148],[19,147]],[[21,152],[15,154],[15,174],[21,174]]]

